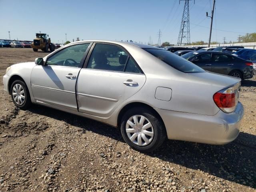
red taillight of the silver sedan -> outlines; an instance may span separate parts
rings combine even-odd
[[[234,93],[217,92],[216,94],[214,94],[213,100],[219,108],[231,108],[236,105]]]

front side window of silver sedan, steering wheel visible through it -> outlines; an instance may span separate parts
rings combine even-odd
[[[46,64],[78,67],[89,45],[88,43],[69,46],[48,58]]]

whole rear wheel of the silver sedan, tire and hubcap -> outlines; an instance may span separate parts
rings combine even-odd
[[[122,117],[121,133],[125,142],[140,152],[151,152],[166,140],[162,120],[148,108],[133,108]]]

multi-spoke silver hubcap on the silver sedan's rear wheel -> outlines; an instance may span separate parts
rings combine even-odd
[[[146,117],[134,115],[126,122],[126,134],[134,144],[145,146],[153,140],[154,128]]]

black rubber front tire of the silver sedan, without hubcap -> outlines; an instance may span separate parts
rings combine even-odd
[[[25,99],[24,99],[24,102],[22,104],[17,104],[14,100],[14,96],[13,96],[13,87],[16,85],[16,84],[19,84],[22,86],[23,90],[24,90],[24,96],[25,96]],[[12,86],[11,86],[11,89],[10,89],[10,94],[11,94],[11,97],[12,97],[12,102],[20,109],[22,110],[26,110],[27,108],[30,107],[31,105],[31,99],[30,99],[30,94],[29,94],[29,91],[28,91],[28,87],[26,86],[26,84],[21,81],[21,80],[15,80],[13,83],[12,83]]]

